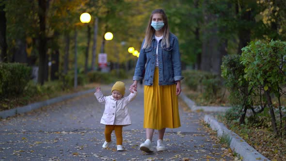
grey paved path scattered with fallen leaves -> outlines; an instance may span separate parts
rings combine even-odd
[[[101,89],[109,95],[111,86]],[[166,130],[164,152],[146,154],[138,150],[145,138],[143,88],[139,88],[138,96],[129,105],[132,125],[123,128],[125,151],[116,151],[114,132],[111,148],[102,148],[104,125],[99,122],[104,106],[93,94],[86,94],[0,120],[0,161],[232,161],[225,156],[227,149],[199,123],[204,113],[191,112],[181,100],[179,104],[182,126]],[[154,147],[157,137],[156,131]]]

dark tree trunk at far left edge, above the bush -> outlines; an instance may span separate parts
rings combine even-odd
[[[0,48],[1,48],[1,57],[0,62],[8,62],[7,55],[7,41],[6,41],[6,30],[7,30],[7,20],[6,13],[4,11],[5,1],[2,1],[2,5],[0,6]]]

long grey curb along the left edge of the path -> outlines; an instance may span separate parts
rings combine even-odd
[[[14,115],[19,114],[19,113],[27,113],[27,112],[30,112],[34,109],[39,109],[43,106],[48,106],[48,105],[53,104],[53,103],[61,102],[61,101],[64,101],[66,99],[70,99],[73,97],[78,97],[80,95],[92,93],[94,91],[95,91],[94,89],[90,89],[90,90],[86,90],[86,91],[80,91],[78,93],[65,95],[65,96],[61,96],[61,97],[55,97],[55,98],[48,99],[48,100],[45,100],[42,102],[32,103],[32,104],[29,104],[27,106],[17,107],[15,109],[11,109],[11,110],[5,110],[5,111],[0,112],[0,118],[11,117],[11,116],[14,116]]]

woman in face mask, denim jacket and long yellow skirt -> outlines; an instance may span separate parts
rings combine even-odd
[[[146,65],[146,66],[145,66]],[[143,72],[145,69],[145,73]],[[181,93],[181,61],[177,37],[169,31],[162,9],[152,12],[142,43],[133,77],[133,88],[144,76],[144,123],[146,141],[140,149],[152,153],[152,138],[157,129],[157,151],[165,151],[163,137],[166,128],[181,126],[178,95]]]

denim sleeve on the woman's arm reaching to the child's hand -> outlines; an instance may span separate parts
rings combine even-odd
[[[143,49],[143,44],[144,44],[145,39],[143,40],[143,43],[141,45],[141,49],[140,49],[140,54],[139,54],[139,58],[137,60],[137,64],[135,67],[135,72],[134,72],[134,76],[133,76],[133,81],[141,81],[143,79],[144,76],[144,68],[145,68],[145,63],[146,63],[146,52],[145,49]]]

